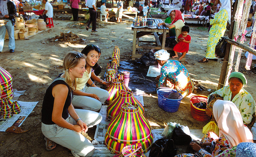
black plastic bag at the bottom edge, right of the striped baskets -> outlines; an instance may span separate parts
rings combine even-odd
[[[151,146],[149,157],[174,157],[177,150],[173,140],[159,139]]]

